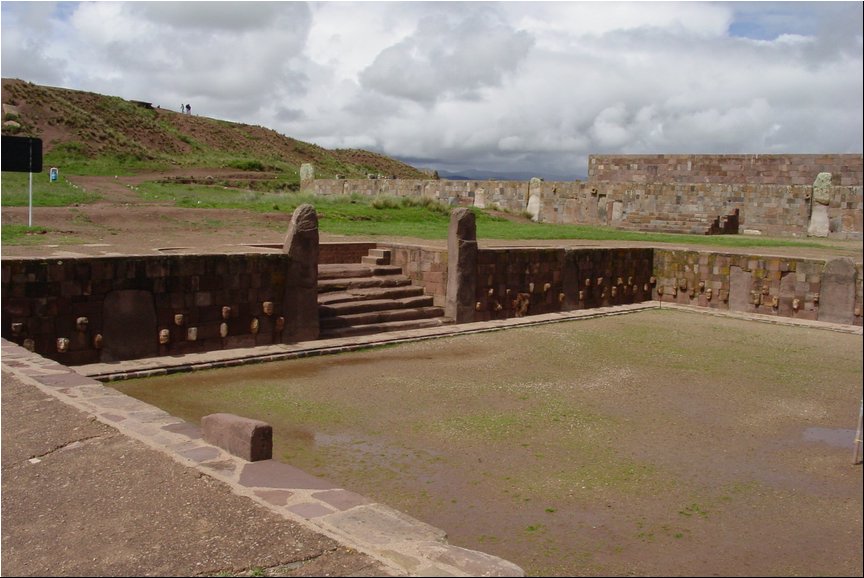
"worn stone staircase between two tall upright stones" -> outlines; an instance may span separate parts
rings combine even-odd
[[[318,266],[320,338],[352,337],[448,323],[444,309],[390,264],[390,251],[372,249],[360,263]]]

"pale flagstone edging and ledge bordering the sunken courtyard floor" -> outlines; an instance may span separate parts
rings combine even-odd
[[[225,350],[182,357],[100,363],[79,366],[74,370],[3,340],[2,366],[4,379],[11,378],[16,383],[35,387],[45,394],[41,397],[43,400],[41,403],[59,400],[80,410],[82,417],[78,419],[84,422],[87,421],[87,416],[93,416],[102,424],[110,425],[122,435],[141,442],[145,447],[158,450],[176,462],[200,471],[208,479],[212,478],[226,484],[233,494],[251,498],[249,507],[261,508],[277,517],[300,523],[314,532],[336,540],[350,551],[356,551],[363,560],[368,560],[350,567],[351,569],[347,570],[348,574],[345,575],[521,576],[524,572],[518,566],[482,552],[451,545],[442,530],[413,519],[385,504],[375,503],[326,480],[310,476],[288,464],[274,460],[246,462],[237,458],[219,447],[206,443],[197,425],[184,422],[156,407],[105,387],[102,382],[323,355],[374,345],[497,331],[509,327],[622,315],[658,307],[689,310],[694,314],[732,316],[857,334],[862,332],[861,327],[855,326],[718,312],[704,308],[697,311],[692,307],[646,302],[399,333]],[[6,416],[7,412],[17,411],[18,399],[7,393],[5,384],[3,394],[3,410]],[[21,409],[23,411],[23,408]],[[30,411],[33,411],[32,407]],[[33,419],[38,420],[40,416],[34,415]],[[38,431],[38,428],[35,431]],[[7,440],[5,427],[3,438],[5,444]],[[15,476],[19,472],[15,469],[7,469],[5,449],[4,491],[7,483],[16,483]],[[129,467],[134,468],[135,459],[129,459],[126,454],[124,456]],[[67,467],[74,468],[77,463],[71,461]],[[10,476],[12,476],[11,480]],[[129,488],[128,491],[135,492],[136,488]],[[164,491],[170,492],[171,487],[166,487]],[[92,499],[98,501],[99,498],[93,496]],[[4,495],[4,508],[5,500]],[[81,503],[79,507],[88,508],[89,504]],[[4,563],[7,563],[7,557],[14,556],[13,552],[8,552],[7,534],[16,531],[16,521],[8,520],[6,512],[4,512],[3,529],[3,557]],[[230,540],[230,533],[224,539]],[[98,561],[94,561],[94,566],[89,569],[89,572],[100,573]]]

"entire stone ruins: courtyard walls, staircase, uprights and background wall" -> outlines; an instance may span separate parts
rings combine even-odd
[[[303,205],[283,244],[246,253],[3,258],[2,337],[83,365],[643,302],[862,325],[862,264],[849,258],[483,247],[468,210],[479,200],[544,222],[689,230],[698,218],[715,234],[735,223],[727,234],[860,239],[861,155],[591,157],[590,169],[584,183],[362,181],[368,194],[447,199],[446,248],[321,243]],[[355,185],[340,180],[339,194]]]

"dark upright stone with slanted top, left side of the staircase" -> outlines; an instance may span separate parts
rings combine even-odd
[[[312,205],[300,205],[294,211],[282,252],[290,259],[282,342],[318,339],[318,214]]]

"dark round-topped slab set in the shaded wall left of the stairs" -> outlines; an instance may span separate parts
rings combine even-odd
[[[102,319],[103,362],[159,354],[156,307],[150,291],[124,289],[108,293]]]

